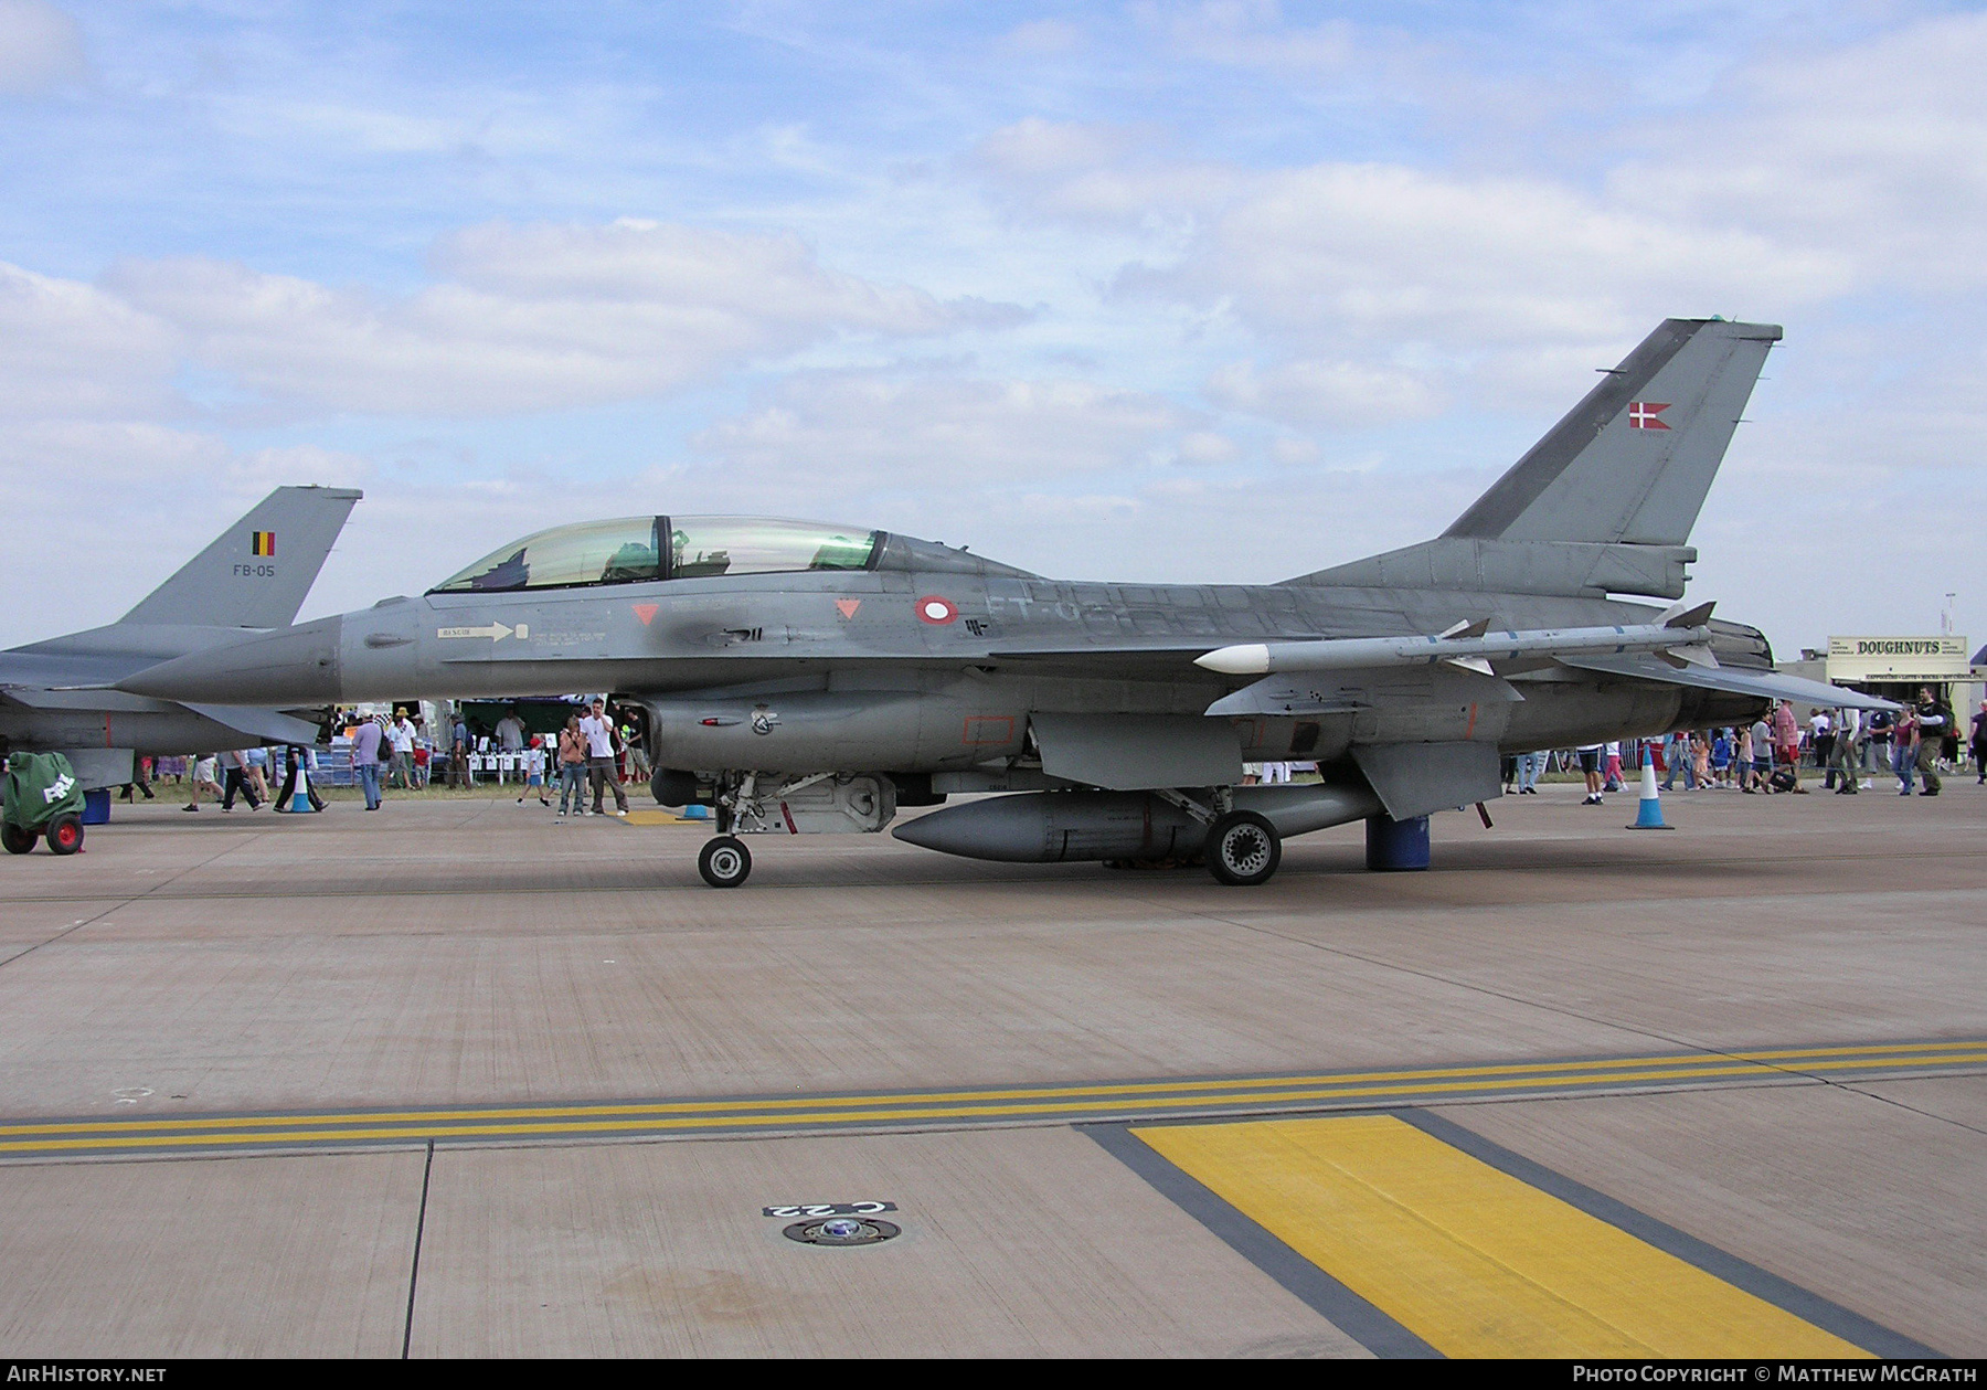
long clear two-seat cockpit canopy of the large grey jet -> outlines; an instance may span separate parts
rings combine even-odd
[[[616,517],[501,545],[429,593],[638,585],[707,575],[874,569],[882,531],[781,517]]]

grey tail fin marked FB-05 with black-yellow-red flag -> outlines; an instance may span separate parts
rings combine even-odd
[[[117,622],[288,626],[360,497],[350,487],[278,487]]]

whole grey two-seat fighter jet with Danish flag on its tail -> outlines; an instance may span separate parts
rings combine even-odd
[[[1780,328],[1667,320],[1443,535],[1278,585],[1051,581],[932,541],[642,515],[499,547],[387,599],[149,668],[123,690],[302,704],[608,690],[648,712],[664,805],[741,835],[880,831],[1009,861],[1204,857],[1266,881],[1282,839],[1381,841],[1496,797],[1500,754],[1862,696],[1669,607],[1691,525]],[[1321,785],[1242,785],[1315,760]],[[1369,845],[1373,841],[1369,839]]]

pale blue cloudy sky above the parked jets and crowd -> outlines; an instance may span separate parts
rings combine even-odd
[[[312,481],[306,616],[642,511],[1276,581],[1671,314],[1786,326],[1691,595],[1981,640],[1981,74],[1884,0],[0,0],[0,642]]]

